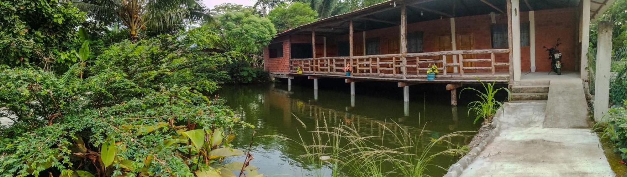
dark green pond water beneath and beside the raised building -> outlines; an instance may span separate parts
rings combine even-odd
[[[393,84],[357,83],[357,95],[351,100],[349,84],[344,80],[322,82],[317,93],[310,85],[310,80],[295,82],[291,88],[287,84],[231,85],[219,90],[216,95],[226,100],[226,104],[248,123],[255,125],[256,137],[262,135],[281,135],[300,140],[300,132],[305,140],[311,140],[306,133],[315,127],[316,118],[329,126],[340,123],[352,125],[360,134],[380,135],[379,123],[398,122],[404,129],[419,132],[424,127],[426,137],[438,138],[447,133],[462,130],[478,130],[479,123],[473,124],[468,118],[465,106],[474,93],[462,93],[459,106],[451,107],[450,94],[444,85],[412,86],[411,102],[403,103],[401,88]],[[428,86],[428,87],[427,87]],[[464,95],[465,94],[465,95]],[[307,126],[304,128],[302,123]],[[233,145],[247,150],[253,130],[236,130],[238,136]],[[470,135],[472,136],[472,135]],[[472,137],[456,138],[453,143],[466,145]],[[384,145],[394,145],[391,140],[383,140]],[[443,150],[440,147],[437,150]],[[255,159],[251,165],[260,168],[266,176],[330,176],[328,166],[322,170],[312,170],[305,160],[302,146],[290,141],[273,138],[255,138],[251,153]],[[228,161],[243,161],[243,156]],[[458,157],[440,156],[434,165],[448,168]],[[440,176],[446,171],[436,167],[429,169],[429,175]]]

